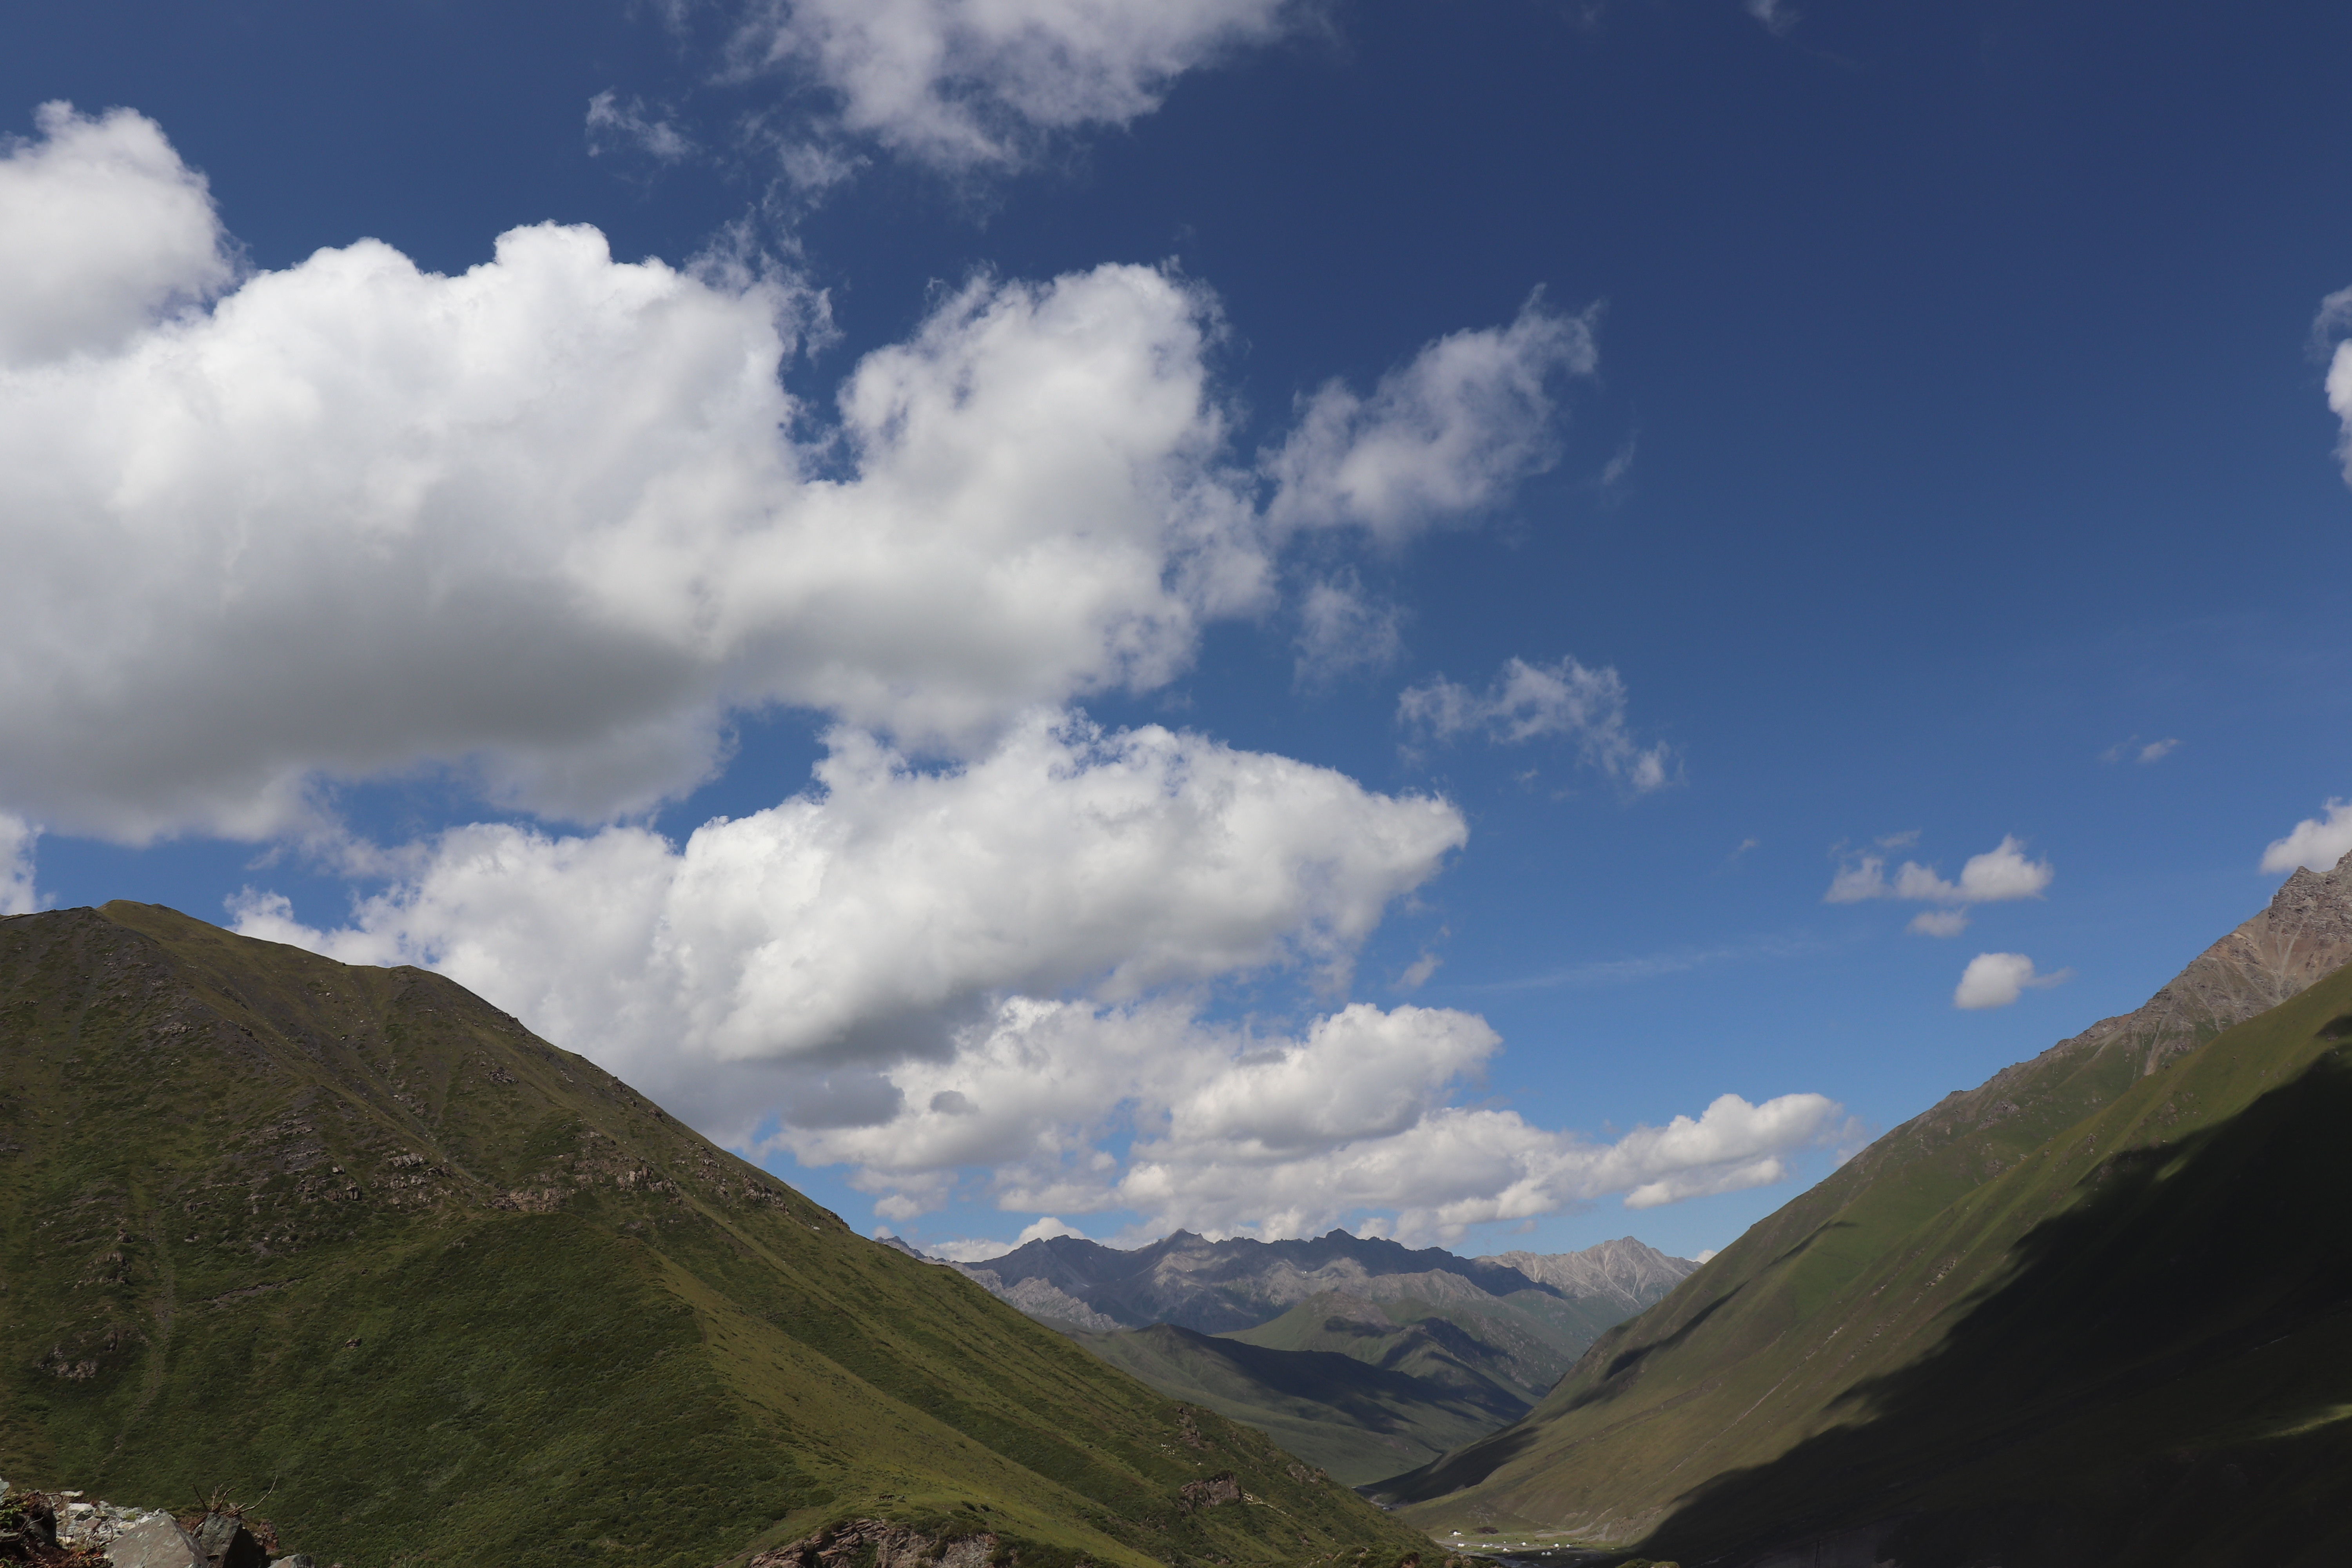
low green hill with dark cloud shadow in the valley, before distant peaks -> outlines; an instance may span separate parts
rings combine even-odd
[[[1378,1366],[1327,1349],[1265,1349],[1176,1324],[1073,1333],[1171,1399],[1247,1422],[1359,1486],[1425,1465],[1526,1413],[1510,1389],[1437,1356]]]

